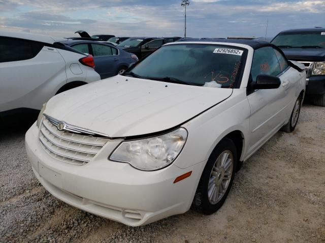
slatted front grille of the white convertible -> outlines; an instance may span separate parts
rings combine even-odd
[[[42,121],[40,142],[50,156],[65,163],[87,164],[109,140],[109,138],[76,134],[66,130],[59,131],[55,126],[56,120],[48,117],[44,117]]]

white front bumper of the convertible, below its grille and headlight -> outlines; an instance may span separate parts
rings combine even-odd
[[[27,131],[27,155],[37,179],[52,195],[76,208],[130,226],[140,226],[185,213],[191,206],[205,161],[180,169],[174,164],[152,172],[108,160],[117,142],[108,142],[83,166],[47,154],[36,124]],[[177,159],[182,159],[180,156]],[[190,177],[173,183],[192,171]]]

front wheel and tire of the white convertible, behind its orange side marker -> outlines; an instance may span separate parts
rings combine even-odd
[[[237,167],[237,149],[229,139],[222,139],[212,151],[203,170],[192,208],[209,215],[224,203],[232,187]]]

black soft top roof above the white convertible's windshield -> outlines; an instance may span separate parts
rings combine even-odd
[[[220,39],[220,38],[211,38],[211,39],[195,39],[195,38],[188,38],[188,39],[182,39],[177,42],[224,42],[224,43],[236,43],[236,44],[243,44],[252,47],[253,49],[258,49],[261,47],[275,47],[278,49],[275,45],[264,42],[264,41],[253,41],[251,39]]]

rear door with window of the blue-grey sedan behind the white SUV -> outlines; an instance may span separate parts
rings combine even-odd
[[[116,75],[116,69],[119,65],[119,56],[115,52],[117,49],[103,44],[90,45],[95,62],[95,71],[101,75],[101,79]]]

